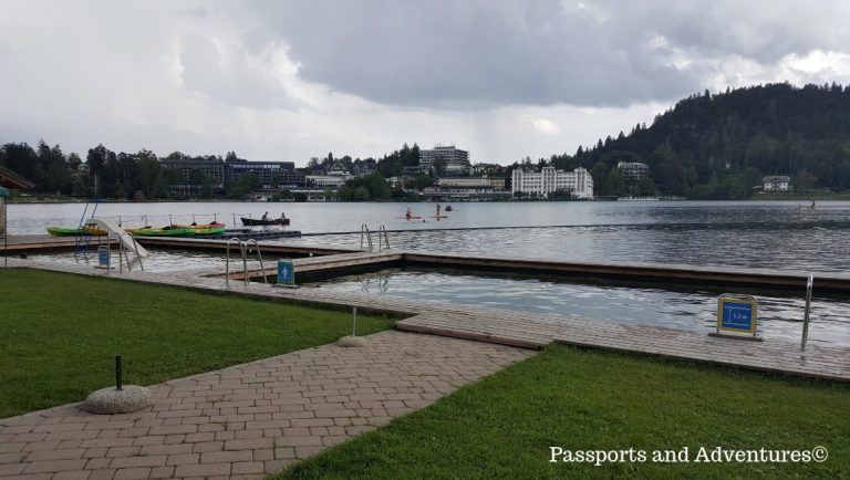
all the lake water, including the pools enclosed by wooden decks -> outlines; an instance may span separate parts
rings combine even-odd
[[[850,202],[802,201],[647,201],[455,204],[448,218],[434,219],[435,204],[102,204],[99,217],[121,218],[125,226],[207,222],[215,217],[232,226],[240,216],[292,219],[303,233],[359,232],[384,226],[393,248],[507,258],[603,262],[654,262],[716,267],[754,267],[811,272],[850,269]],[[422,220],[405,220],[411,207]],[[443,205],[445,207],[445,204]],[[10,205],[9,232],[43,233],[51,225],[75,226],[84,205]],[[91,211],[91,210],[90,210]],[[194,217],[193,217],[194,215]],[[424,220],[424,221],[423,221]],[[479,230],[463,230],[485,228]],[[489,228],[489,229],[487,229]],[[288,244],[360,246],[359,233],[284,239]],[[69,254],[51,255],[73,261]],[[267,259],[276,260],[276,259]],[[221,267],[220,254],[156,252],[149,270]],[[372,275],[372,276],[369,276]],[[717,292],[577,285],[549,280],[493,279],[440,272],[379,272],[323,282],[320,288],[406,298],[436,299],[524,311],[549,311],[587,317],[653,322],[711,328]],[[817,286],[817,280],[816,280]],[[493,292],[498,292],[493,294]],[[801,292],[802,293],[802,292]],[[817,290],[816,290],[817,295]],[[798,337],[799,299],[759,296],[766,332]],[[817,299],[812,342],[850,345],[850,305]]]

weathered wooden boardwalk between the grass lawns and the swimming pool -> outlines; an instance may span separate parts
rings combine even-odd
[[[366,253],[297,259],[297,269],[339,268],[403,259],[407,252]],[[10,267],[35,268],[85,275],[106,275],[102,269],[87,265],[59,264],[34,260],[9,259]],[[251,262],[250,269],[259,270]],[[1,272],[1,271],[0,271]],[[412,301],[385,295],[332,292],[301,286],[279,288],[222,278],[221,269],[208,268],[179,272],[142,272],[134,270],[110,275],[126,280],[191,286],[210,291],[228,291],[270,300],[310,304],[357,306],[404,316],[400,330],[476,340],[519,347],[540,348],[551,342],[588,347],[642,352],[676,358],[709,362],[782,374],[850,380],[850,347],[810,343],[805,352],[799,344],[784,338],[748,342],[712,337],[705,332],[588,320],[576,316],[538,314],[484,307],[452,305],[433,301]],[[259,273],[259,272],[258,272]],[[1,273],[0,273],[1,274]]]

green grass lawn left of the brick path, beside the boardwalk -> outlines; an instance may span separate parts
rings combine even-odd
[[[357,333],[395,320],[357,315]],[[0,418],[334,342],[351,313],[121,280],[0,270]]]

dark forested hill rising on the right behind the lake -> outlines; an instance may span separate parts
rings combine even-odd
[[[643,161],[652,181],[625,186],[618,161]],[[798,192],[850,189],[850,86],[768,84],[694,95],[629,135],[579,148],[597,195],[625,190],[746,198],[763,176],[787,175]],[[638,188],[641,191],[634,191]]]

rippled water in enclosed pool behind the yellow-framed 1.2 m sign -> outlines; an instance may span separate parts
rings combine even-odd
[[[386,269],[346,275],[313,285],[342,292],[522,312],[557,313],[583,319],[665,325],[711,332],[715,327],[717,293],[676,292],[587,285],[485,273],[447,273],[445,270]],[[759,332],[765,338],[798,341],[805,302],[800,299],[759,295]],[[816,299],[811,307],[810,342],[850,345],[850,305]]]

